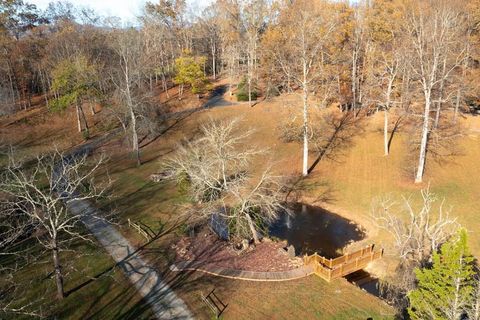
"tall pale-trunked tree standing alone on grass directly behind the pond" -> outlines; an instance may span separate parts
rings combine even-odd
[[[295,1],[285,8],[279,23],[269,31],[274,46],[270,54],[288,79],[301,89],[303,103],[302,174],[308,175],[309,96],[324,75],[328,59],[327,40],[335,30],[336,20],[328,4]]]

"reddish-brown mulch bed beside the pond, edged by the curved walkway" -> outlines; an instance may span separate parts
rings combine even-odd
[[[285,241],[264,239],[241,251],[205,230],[194,237],[181,238],[172,248],[176,251],[177,262],[195,261],[196,264],[208,267],[272,272],[288,271],[303,265],[301,258],[289,258],[284,249],[286,245]]]

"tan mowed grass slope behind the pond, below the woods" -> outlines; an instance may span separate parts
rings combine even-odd
[[[163,214],[179,210],[184,197],[177,193],[171,183],[152,183],[149,175],[161,170],[162,161],[174,154],[182,139],[194,139],[199,126],[211,118],[229,119],[240,117],[247,129],[254,129],[248,141],[269,152],[255,159],[254,168],[260,170],[273,162],[274,170],[280,174],[299,174],[301,171],[301,145],[284,143],[279,138],[280,126],[290,117],[295,108],[295,98],[281,97],[262,102],[253,108],[246,105],[223,107],[199,111],[176,123],[156,141],[142,149],[144,164],[134,166],[130,156],[124,152],[112,156],[111,176],[115,181],[118,195],[116,204],[124,209],[127,216],[155,220]],[[390,155],[383,155],[383,118],[381,114],[368,117],[352,143],[341,150],[335,160],[323,159],[304,182],[304,200],[327,207],[363,225],[369,231],[371,240],[388,242],[372,223],[372,205],[380,197],[389,196],[399,204],[402,197],[409,198],[418,206],[420,190],[430,187],[443,202],[443,210],[470,232],[470,246],[473,253],[480,255],[480,206],[477,195],[478,159],[480,157],[480,119],[468,116],[461,121],[465,136],[458,140],[461,153],[444,158],[442,162],[430,160],[427,163],[423,184],[414,184],[416,154],[408,147],[410,139],[407,129],[395,134]],[[112,142],[107,151],[118,150],[119,142]],[[311,152],[310,163],[316,154]],[[324,199],[326,198],[326,200]],[[137,201],[138,200],[138,201]],[[434,210],[438,210],[437,207]],[[380,243],[388,246],[388,243]]]

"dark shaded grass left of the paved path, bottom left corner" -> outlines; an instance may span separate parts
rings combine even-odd
[[[38,263],[11,274],[16,283],[28,284],[20,291],[22,294],[14,306],[34,302],[28,310],[41,310],[43,315],[56,319],[149,319],[152,316],[150,307],[102,248],[92,244],[72,248],[75,251],[60,254],[67,297],[62,301],[56,299],[53,266],[50,253],[46,252]],[[6,258],[0,260],[3,266],[9,263]],[[8,278],[5,275],[0,283]],[[7,319],[1,313],[0,318]],[[28,317],[16,315],[14,318]]]

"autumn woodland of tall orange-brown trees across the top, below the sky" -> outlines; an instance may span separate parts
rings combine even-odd
[[[386,156],[391,109],[413,115],[422,182],[427,156],[446,153],[459,112],[478,105],[478,0],[217,0],[196,14],[184,0],[161,0],[147,2],[134,27],[69,2],[44,12],[21,0],[0,6],[2,113],[40,94],[53,108],[75,105],[88,135],[83,102],[108,100],[137,153],[155,87],[200,94],[205,75],[221,74],[250,105],[259,91],[301,96],[304,176],[312,107],[382,111]]]

